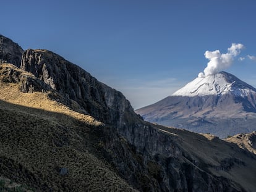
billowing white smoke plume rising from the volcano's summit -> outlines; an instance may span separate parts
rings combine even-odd
[[[215,75],[221,70],[227,69],[233,64],[234,57],[238,56],[244,45],[241,43],[232,43],[228,52],[221,53],[220,50],[205,51],[205,58],[209,60],[207,67],[203,72],[198,73],[198,77],[203,78],[208,75]]]

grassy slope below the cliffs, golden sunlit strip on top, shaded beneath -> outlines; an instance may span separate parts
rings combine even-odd
[[[103,123],[47,93],[0,88],[0,175],[41,191],[133,191],[92,153],[100,141],[90,132],[106,128]],[[61,168],[68,173],[61,175]]]

